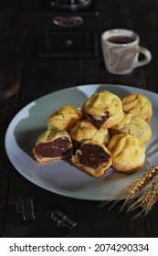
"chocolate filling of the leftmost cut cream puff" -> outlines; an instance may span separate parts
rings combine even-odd
[[[68,153],[69,141],[66,137],[58,138],[50,143],[41,143],[36,147],[38,157],[58,157]]]

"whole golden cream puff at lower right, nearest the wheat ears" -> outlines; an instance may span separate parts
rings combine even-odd
[[[113,136],[108,149],[112,167],[118,172],[135,173],[145,163],[145,146],[134,135],[121,133]]]

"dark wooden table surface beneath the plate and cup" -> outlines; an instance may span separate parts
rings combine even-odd
[[[158,93],[158,2],[156,0],[99,0],[98,56],[90,58],[40,58],[43,37],[38,5],[41,1],[0,3],[0,237],[157,237],[158,204],[146,217],[118,212],[118,207],[99,208],[99,201],[58,196],[21,176],[5,153],[5,131],[27,103],[59,89],[81,84],[110,83]],[[111,75],[103,64],[100,34],[109,28],[136,31],[143,47],[152,51],[150,64],[126,76]],[[40,34],[41,32],[41,34]],[[35,219],[24,220],[17,212],[19,198],[31,199]],[[77,222],[71,229],[47,224],[48,211],[62,210]]]

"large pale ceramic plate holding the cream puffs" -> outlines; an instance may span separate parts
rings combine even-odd
[[[94,92],[111,91],[119,97],[138,92],[146,95],[153,103],[151,122],[153,138],[146,144],[146,165],[133,175],[117,173],[111,168],[99,179],[90,177],[70,161],[60,160],[37,164],[32,148],[37,136],[47,129],[47,117],[65,104],[80,107]],[[26,105],[9,124],[5,134],[5,150],[16,170],[38,187],[59,195],[88,200],[110,200],[135,176],[153,165],[158,165],[158,94],[133,87],[110,84],[90,84],[52,92]]]

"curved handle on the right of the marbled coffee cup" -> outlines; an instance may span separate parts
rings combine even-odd
[[[137,49],[137,53],[138,53],[138,58],[139,58],[139,54],[142,53],[144,55],[144,59],[138,60],[138,58],[137,58],[137,61],[134,64],[134,68],[144,66],[144,65],[148,64],[152,59],[152,54],[147,48],[139,47]]]

